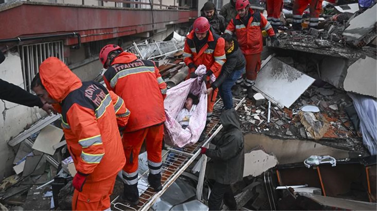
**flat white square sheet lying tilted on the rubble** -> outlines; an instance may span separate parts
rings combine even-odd
[[[253,89],[280,108],[289,108],[313,82],[314,78],[272,58],[259,72]]]

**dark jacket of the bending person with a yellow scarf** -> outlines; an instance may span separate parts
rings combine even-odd
[[[244,54],[242,54],[241,49],[239,49],[237,42],[234,42],[234,50],[229,54],[225,52],[225,55],[227,56],[227,61],[222,65],[219,77],[211,84],[213,89],[219,87],[233,71],[240,70],[246,65]]]

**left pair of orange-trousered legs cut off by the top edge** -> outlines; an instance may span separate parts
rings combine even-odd
[[[281,26],[280,14],[283,11],[283,6],[283,0],[267,0],[267,21],[271,23],[275,34],[277,33],[277,28]]]

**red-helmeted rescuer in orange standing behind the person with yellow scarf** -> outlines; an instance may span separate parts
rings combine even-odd
[[[248,0],[237,0],[236,9],[238,15],[233,18],[225,30],[225,33],[236,34],[239,47],[246,59],[246,80],[248,97],[253,97],[252,86],[261,68],[261,52],[263,50],[262,30],[266,30],[273,45],[278,41],[274,30],[266,18],[259,12],[250,8]]]

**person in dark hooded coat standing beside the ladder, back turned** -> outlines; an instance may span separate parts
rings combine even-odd
[[[224,133],[220,139],[211,142],[216,148],[201,147],[201,154],[211,158],[207,164],[206,175],[209,179],[215,180],[208,199],[208,208],[210,211],[219,211],[224,200],[224,204],[231,211],[236,211],[237,202],[230,185],[242,180],[244,175],[244,135],[234,108],[223,111],[220,121]]]

